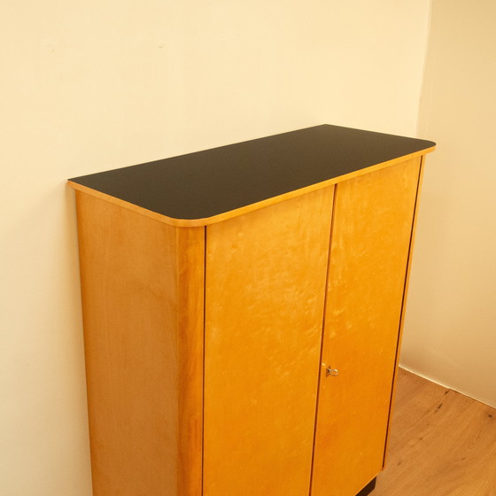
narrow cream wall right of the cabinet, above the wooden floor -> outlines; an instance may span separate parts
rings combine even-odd
[[[403,365],[496,407],[496,2],[433,0]]]

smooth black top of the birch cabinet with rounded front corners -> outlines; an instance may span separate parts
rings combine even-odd
[[[205,219],[433,146],[322,125],[70,181],[173,219]]]

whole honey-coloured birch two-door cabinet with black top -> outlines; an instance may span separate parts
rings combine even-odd
[[[324,125],[69,182],[95,496],[373,490],[434,146]]]

